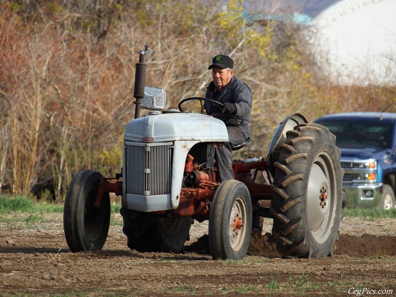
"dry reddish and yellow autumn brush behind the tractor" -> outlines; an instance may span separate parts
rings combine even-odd
[[[315,65],[310,28],[247,17],[241,1],[0,1],[0,191],[62,201],[73,174],[114,176],[134,118],[138,50],[148,44],[146,85],[167,108],[202,97],[218,54],[253,92],[251,138],[239,154],[266,155],[280,121],[340,111],[396,111],[395,88],[330,83]],[[52,191],[53,189],[53,191]],[[47,193],[47,196],[50,196]]]

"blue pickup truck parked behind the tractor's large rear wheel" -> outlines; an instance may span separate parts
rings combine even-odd
[[[395,207],[396,113],[350,112],[314,121],[329,128],[341,149],[345,207]]]

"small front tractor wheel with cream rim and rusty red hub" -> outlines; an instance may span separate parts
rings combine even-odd
[[[249,247],[252,224],[250,194],[236,180],[220,184],[209,213],[209,248],[213,259],[242,259]]]

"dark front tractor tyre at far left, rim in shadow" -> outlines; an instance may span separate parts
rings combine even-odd
[[[110,226],[109,194],[103,194],[99,208],[94,206],[101,177],[96,171],[80,171],[67,189],[63,229],[72,252],[101,249],[106,241]]]

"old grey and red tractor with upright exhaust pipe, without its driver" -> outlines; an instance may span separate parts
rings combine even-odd
[[[222,182],[215,151],[228,142],[224,122],[203,108],[183,110],[187,101],[202,106],[204,98],[186,98],[178,109],[165,110],[165,90],[145,86],[145,55],[150,52],[147,45],[139,50],[135,118],[125,128],[121,173],[103,177],[84,170],[69,184],[63,224],[70,250],[103,247],[109,194],[114,193],[121,196],[127,246],[140,252],[184,252],[194,221],[208,220],[212,258],[242,259],[252,228],[260,228],[266,217],[273,219],[272,235],[284,257],[332,255],[344,175],[335,136],[293,113],[276,129],[266,157],[234,160],[235,179]],[[140,108],[148,110],[146,116],[140,117]]]

